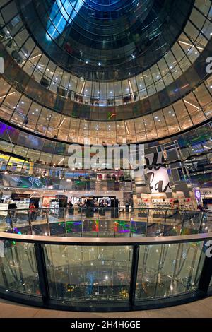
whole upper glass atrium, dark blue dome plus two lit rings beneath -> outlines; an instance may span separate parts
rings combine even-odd
[[[208,0],[4,1],[0,117],[54,140],[104,144],[152,141],[204,123],[211,18]],[[142,52],[131,40],[136,31],[149,42]]]

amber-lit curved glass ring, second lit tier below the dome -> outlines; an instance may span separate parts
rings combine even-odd
[[[37,134],[78,143],[134,143],[163,138],[189,129],[211,117],[212,81],[208,78],[194,92],[172,105],[136,119],[88,121],[50,111],[18,92],[3,78],[0,81],[0,116]],[[124,108],[122,108],[124,117]],[[27,119],[27,123],[25,121]]]

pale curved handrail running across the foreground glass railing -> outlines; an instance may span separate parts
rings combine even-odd
[[[185,242],[198,242],[205,239],[212,239],[212,232],[196,235],[170,236],[170,237],[52,237],[40,235],[18,235],[7,232],[0,232],[1,240],[11,240],[16,242],[42,243],[42,244],[61,244],[61,245],[153,245],[153,244],[178,244]]]

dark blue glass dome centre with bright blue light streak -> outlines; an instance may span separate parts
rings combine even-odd
[[[18,1],[30,34],[78,77],[118,81],[141,73],[172,47],[194,0]]]

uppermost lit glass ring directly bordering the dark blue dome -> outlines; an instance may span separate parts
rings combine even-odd
[[[179,1],[177,2],[179,3]],[[185,4],[187,1],[183,1],[183,3]],[[9,14],[10,7],[13,9],[11,11],[13,16]],[[14,11],[16,11],[16,19]],[[192,66],[210,40],[211,1],[195,1],[184,30],[177,41],[172,43],[170,50],[163,51],[165,54],[155,60],[155,64],[148,66],[147,70],[141,70],[142,64],[139,63],[141,73],[135,76],[132,76],[128,66],[128,69],[124,70],[125,73],[127,72],[127,77],[124,80],[120,81],[114,77],[108,83],[104,83],[102,76],[90,81],[86,74],[79,73],[80,66],[78,76],[71,75],[61,69],[61,63],[57,66],[57,60],[55,60],[57,54],[60,54],[61,57],[64,57],[64,54],[59,51],[54,52],[53,59],[56,62],[52,61],[52,58],[49,59],[40,48],[40,43],[45,42],[45,38],[35,43],[33,33],[29,34],[21,17],[15,4],[9,4],[2,9],[1,26],[6,25],[2,29],[2,34],[5,35],[2,42],[28,75],[53,93],[58,93],[63,97],[71,97],[72,100],[80,104],[99,107],[118,106],[145,100],[151,95],[157,94],[174,83],[177,78],[183,76],[187,69]],[[41,23],[40,25],[37,23],[36,26],[42,27]],[[54,49],[52,44],[49,49]],[[161,47],[158,46],[158,49],[161,51]],[[113,52],[110,53],[113,54]],[[120,53],[122,54],[121,51],[119,51]],[[155,54],[155,52],[151,52],[151,54]],[[98,54],[99,56],[100,54]],[[136,56],[134,57],[137,59]],[[96,71],[98,72],[98,69]],[[107,71],[109,71],[108,68]],[[87,72],[90,73],[90,69]],[[80,117],[80,114],[78,116]]]

